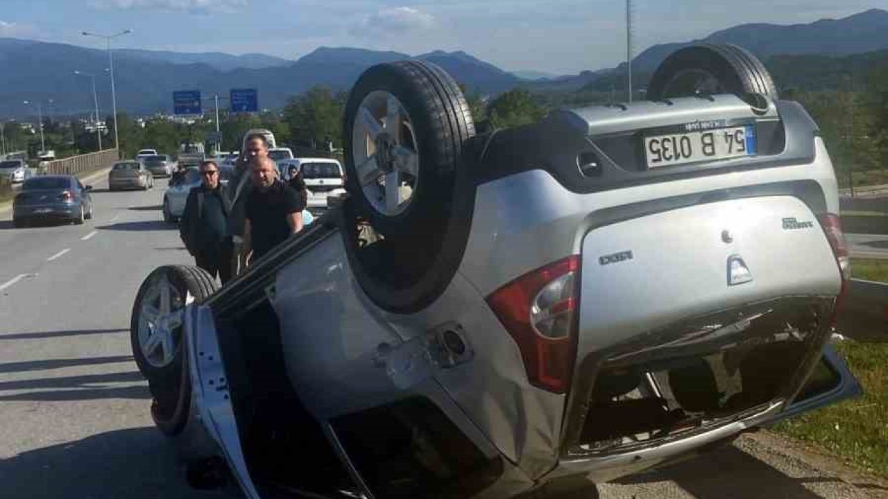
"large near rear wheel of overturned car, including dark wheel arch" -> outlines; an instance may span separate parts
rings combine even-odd
[[[443,69],[419,60],[380,64],[345,108],[346,248],[361,288],[380,307],[414,312],[446,288],[472,218],[464,143],[472,113]],[[381,237],[360,245],[357,221]]]

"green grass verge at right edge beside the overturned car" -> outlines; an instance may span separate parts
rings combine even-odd
[[[855,278],[888,282],[888,261],[855,258],[851,268]],[[860,381],[863,395],[797,416],[773,429],[888,478],[888,343],[848,340],[837,344],[836,350]]]

